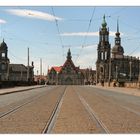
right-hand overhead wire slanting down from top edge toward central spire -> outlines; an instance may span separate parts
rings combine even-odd
[[[77,61],[78,58],[80,57],[80,54],[82,53],[82,50],[83,50],[83,48],[85,47],[85,43],[86,43],[86,41],[87,41],[87,35],[88,35],[89,29],[90,29],[90,26],[91,26],[91,22],[92,22],[92,20],[93,20],[93,16],[94,16],[94,13],[95,13],[95,8],[96,8],[96,7],[94,7],[93,12],[92,12],[92,15],[91,15],[91,18],[90,18],[90,20],[89,20],[87,32],[86,32],[86,35],[85,35],[84,41],[83,41],[83,45],[82,45],[82,48],[81,48],[81,50],[80,50],[80,53],[79,53],[78,56],[77,56],[76,61]]]

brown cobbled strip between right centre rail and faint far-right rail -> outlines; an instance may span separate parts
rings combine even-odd
[[[138,133],[140,113],[129,107],[129,103],[119,102],[114,98],[93,92],[90,89],[78,90],[83,98],[94,108],[110,133]],[[84,93],[86,92],[86,94]],[[92,94],[93,93],[93,94]],[[134,106],[135,107],[135,106]]]

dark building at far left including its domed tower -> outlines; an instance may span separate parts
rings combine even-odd
[[[0,85],[10,82],[33,82],[34,81],[34,65],[25,66],[23,64],[10,64],[8,58],[8,47],[3,42],[0,44]],[[29,77],[27,73],[29,71]]]

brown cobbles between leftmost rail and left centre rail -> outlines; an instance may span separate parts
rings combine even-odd
[[[55,88],[0,119],[0,133],[41,133],[64,87]]]

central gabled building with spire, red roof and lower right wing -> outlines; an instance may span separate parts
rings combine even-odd
[[[53,85],[84,85],[94,84],[96,71],[91,68],[80,69],[72,61],[71,51],[68,50],[67,59],[63,66],[51,67],[48,70],[48,84]]]

